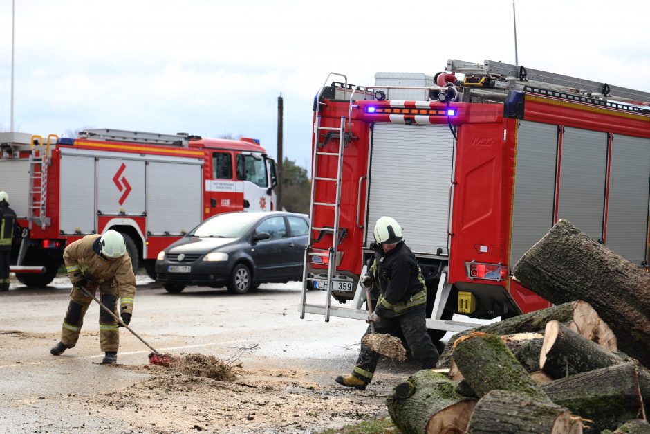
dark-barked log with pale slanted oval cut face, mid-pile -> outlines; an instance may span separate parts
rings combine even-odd
[[[605,350],[564,324],[557,321],[546,324],[539,368],[551,377],[568,377],[623,362],[618,354]]]

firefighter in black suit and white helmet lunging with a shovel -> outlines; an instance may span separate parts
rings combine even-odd
[[[375,260],[363,284],[379,287],[377,306],[366,320],[375,323],[376,333],[393,336],[402,329],[411,354],[422,369],[438,363],[438,350],[427,332],[427,288],[420,265],[402,239],[402,228],[391,217],[380,217],[375,224]],[[365,334],[371,332],[370,327]],[[364,334],[364,336],[365,336]],[[352,374],[336,377],[343,386],[365,389],[373,378],[379,354],[361,344]]]

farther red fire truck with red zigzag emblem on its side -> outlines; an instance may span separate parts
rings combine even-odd
[[[275,204],[275,161],[249,138],[89,129],[2,133],[0,147],[0,190],[23,228],[11,271],[31,286],[50,283],[84,235],[122,233],[134,269],[153,277],[158,253],[203,219]]]

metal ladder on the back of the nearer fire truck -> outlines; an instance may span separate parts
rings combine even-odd
[[[313,140],[313,164],[312,164],[312,178],[311,178],[311,203],[310,203],[310,223],[309,223],[309,236],[310,236],[310,241],[309,244],[306,248],[305,251],[305,261],[304,261],[304,271],[303,271],[303,280],[302,280],[302,304],[301,304],[301,311],[300,311],[300,318],[305,318],[305,310],[306,310],[306,297],[307,297],[307,285],[308,282],[323,282],[324,279],[321,278],[316,278],[316,276],[310,272],[311,267],[310,264],[313,262],[313,258],[319,257],[319,258],[328,258],[328,267],[327,267],[327,278],[326,278],[326,298],[325,298],[325,320],[329,321],[330,320],[330,305],[331,305],[331,299],[332,299],[332,289],[333,289],[333,282],[336,280],[337,275],[336,275],[336,263],[337,263],[337,248],[338,244],[342,240],[342,237],[345,235],[345,230],[341,230],[339,228],[339,217],[340,217],[340,208],[341,208],[341,179],[342,179],[342,174],[343,174],[343,150],[345,149],[345,146],[347,144],[347,136],[345,131],[345,123],[346,123],[346,118],[343,116],[341,118],[341,123],[339,127],[321,127],[321,114],[320,114],[320,106],[322,102],[320,102],[320,98],[322,96],[322,93],[326,87],[326,84],[328,83],[328,80],[332,75],[338,75],[342,78],[345,79],[345,84],[347,85],[348,79],[345,75],[338,74],[338,73],[330,73],[325,80],[325,83],[321,90],[318,92],[318,95],[316,96],[316,116],[315,116],[315,123],[314,123],[314,140]],[[352,103],[352,100],[351,100]],[[325,140],[323,144],[320,144],[320,133],[325,132]],[[328,142],[328,138],[336,138],[338,136],[339,139],[339,147],[338,147],[338,152],[322,152],[321,148],[325,147],[326,143]],[[336,177],[335,178],[329,178],[329,177],[320,177],[319,174],[317,173],[317,168],[318,168],[318,161],[320,158],[326,158],[326,159],[337,159],[337,171],[336,171]],[[333,203],[331,202],[321,202],[321,201],[315,201],[314,198],[314,192],[316,190],[316,184],[321,184],[321,183],[335,183],[336,186],[336,199]],[[334,209],[334,221],[332,222],[331,226],[327,226],[325,224],[322,224],[322,227],[315,227],[313,226],[314,222],[314,210],[317,206],[328,206]],[[313,237],[313,233],[317,231],[319,233],[319,236],[317,238]],[[332,234],[332,246],[330,248],[315,248],[314,244],[319,242],[322,237],[328,233]]]

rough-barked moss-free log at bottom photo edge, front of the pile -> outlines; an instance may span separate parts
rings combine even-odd
[[[520,392],[492,390],[474,407],[466,433],[578,434],[582,429],[572,424],[564,407]]]

